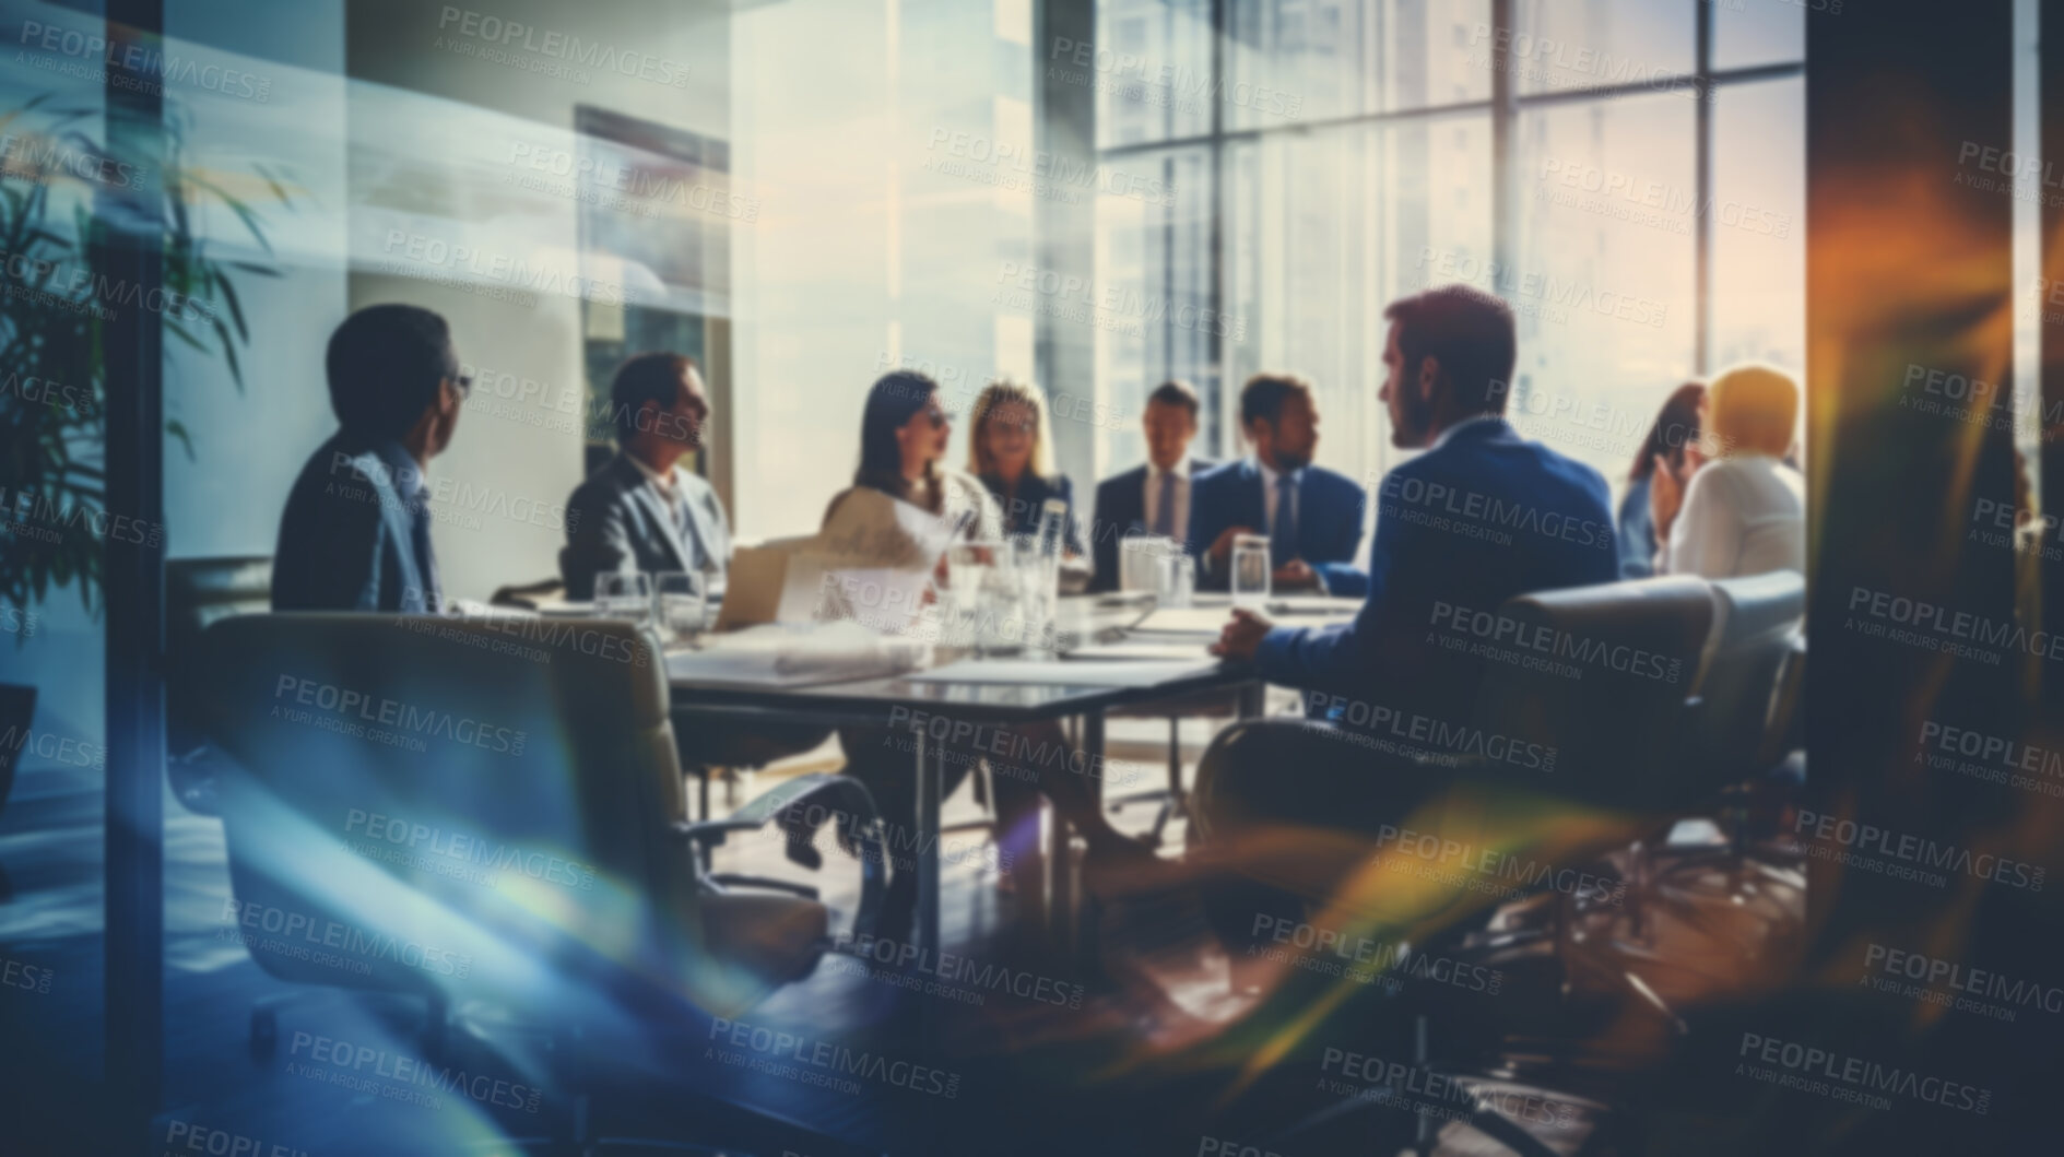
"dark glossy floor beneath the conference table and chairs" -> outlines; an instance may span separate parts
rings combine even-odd
[[[1110,755],[1160,765],[1164,728],[1112,722]],[[1187,736],[1187,759],[1203,738],[1201,726]],[[751,788],[788,771],[762,773]],[[35,976],[47,990],[0,990],[4,1039],[33,1042],[0,1060],[0,1079],[14,1093],[8,1099],[25,1108],[8,1132],[17,1145],[0,1151],[95,1153],[101,1149],[89,1138],[103,1122],[83,1089],[99,1075],[103,1033],[101,798],[83,775],[31,773],[19,788],[0,813],[0,868],[10,885],[0,903],[0,957],[41,969]],[[460,1044],[448,1064],[464,1070],[464,1083],[460,1091],[425,1091],[419,1079],[402,1077],[425,1052],[421,1004],[310,990],[262,973],[241,943],[225,938],[221,825],[171,798],[165,815],[161,1103],[169,1110],[155,1126],[153,1153],[493,1153],[514,1151],[508,1138],[570,1126],[578,1101],[543,1077],[557,1070],[553,1054],[568,1042],[541,1035],[522,1009],[454,1009],[464,1031],[454,1033]],[[1141,831],[1154,815],[1156,806],[1135,804],[1117,821]],[[968,792],[947,806],[949,825],[980,817]],[[1181,821],[1168,835],[1181,848]],[[900,947],[854,945],[739,1015],[743,1035],[737,1027],[681,1025],[687,1039],[671,1052],[617,1052],[607,1060],[619,1077],[592,1103],[594,1126],[714,1138],[718,1122],[702,1099],[716,1097],[892,1153],[968,1151],[956,1136],[987,1136],[985,1153],[1199,1153],[1216,1151],[1207,1141],[1273,1136],[1255,1153],[1282,1157],[1348,1151],[1342,1145],[1395,1151],[1389,1138],[1414,1126],[1410,1114],[1346,1112],[1358,1105],[1313,1089],[1296,1066],[1249,1066],[1271,1048],[1315,1048],[1311,1039],[1271,1042],[1271,1025],[1296,1021],[1273,1017],[1282,1006],[1319,1000],[1342,1025],[1389,1031],[1387,1009],[1397,1002],[1381,984],[1348,996],[1333,992],[1337,980],[1304,990],[1300,984],[1319,980],[1311,967],[1253,984],[1181,899],[1098,912],[1092,953],[1030,953],[1009,938],[1018,897],[999,889],[985,837],[960,833],[972,852],[945,864],[952,959],[912,961]],[[834,907],[838,928],[852,912],[859,872],[840,854],[826,860],[821,872],[805,872],[786,860],[780,839],[737,839],[718,852],[716,868],[809,881]],[[1544,986],[1525,1002],[1501,998],[1498,1025],[1474,1052],[1478,1079],[1560,1081],[1595,1093],[1593,1101],[1571,1091],[1573,1103],[1608,1105],[1616,1072],[1670,1048],[1680,1011],[1754,990],[1783,971],[1804,918],[1804,877],[1781,844],[1730,854],[1711,825],[1688,823],[1647,858],[1622,852],[1614,870],[1649,881],[1641,905],[1579,910],[1569,897],[1511,903],[1465,945],[1509,976],[1509,992]],[[1560,928],[1565,957],[1577,961],[1552,976],[1540,967],[1540,932],[1550,926]],[[21,967],[17,976],[25,976]],[[250,1027],[254,1004],[270,1000],[281,1006],[277,1046],[266,1054],[252,1048]],[[1548,1013],[1507,1023],[1513,1019],[1503,1011],[1521,1006]],[[1478,1029],[1476,1019],[1463,1009],[1449,1021],[1457,1039]],[[828,1085],[821,1072],[793,1064],[795,1054],[753,1050],[755,1039],[780,1033],[805,1042],[795,1050],[801,1054],[807,1042],[832,1042],[890,1064]],[[925,1048],[925,1033],[937,1050]],[[473,1039],[491,1046],[464,1044]],[[338,1042],[349,1050],[338,1052]],[[630,1116],[619,1112],[625,1105],[658,1112]],[[1468,1153],[1468,1130],[1449,1132],[1453,1145],[1443,1132],[1441,1151]],[[1548,1143],[1558,1153],[1614,1151],[1600,1136],[1585,1126]],[[239,1141],[248,1145],[235,1149]],[[760,1136],[702,1151],[834,1151],[799,1145]]]

